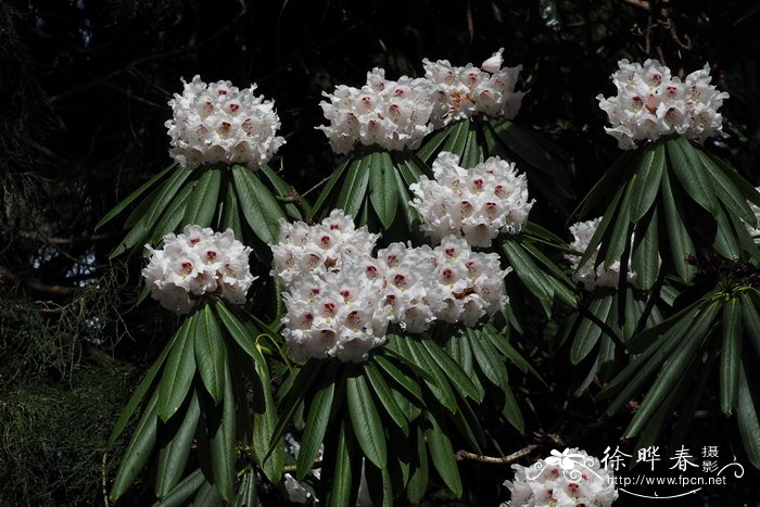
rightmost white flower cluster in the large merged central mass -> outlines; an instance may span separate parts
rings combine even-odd
[[[502,269],[497,254],[473,252],[467,241],[455,236],[444,238],[433,254],[435,282],[442,293],[436,318],[472,327],[509,302],[502,293],[502,281],[511,268]]]

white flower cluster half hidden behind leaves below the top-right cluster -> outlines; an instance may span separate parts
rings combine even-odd
[[[591,239],[596,232],[596,228],[601,223],[601,217],[595,218],[593,220],[579,221],[570,226],[570,232],[573,236],[573,241],[570,243],[570,248],[577,252],[585,252],[588,248]],[[596,251],[588,257],[588,262],[583,265],[580,269],[578,268],[581,262],[581,255],[566,254],[565,258],[570,261],[570,267],[575,269],[572,275],[572,279],[575,282],[583,283],[583,288],[587,291],[593,291],[597,287],[613,287],[618,288],[618,280],[620,278],[620,261],[616,261],[608,268],[605,268],[604,263],[600,263],[596,269],[594,269],[594,264],[596,264],[596,255],[599,251],[597,246]],[[635,283],[636,274],[631,270],[631,262],[629,261],[629,271],[628,281]]]

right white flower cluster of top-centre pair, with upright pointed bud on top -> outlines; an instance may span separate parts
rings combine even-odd
[[[522,65],[502,68],[504,48],[487,59],[480,68],[468,63],[452,66],[447,60],[422,60],[425,77],[432,86],[434,127],[468,118],[478,113],[514,118],[520,111],[524,91],[515,91]]]

